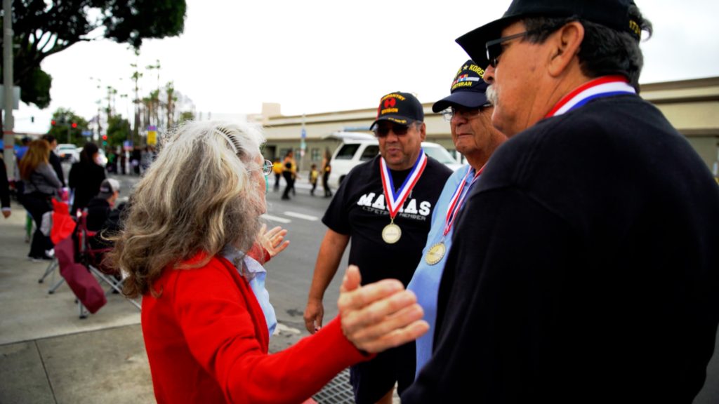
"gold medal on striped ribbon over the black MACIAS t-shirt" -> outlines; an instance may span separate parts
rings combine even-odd
[[[424,167],[427,165],[427,156],[424,154],[424,150],[419,150],[419,157],[414,162],[412,170],[410,171],[407,178],[405,178],[402,185],[395,191],[394,184],[392,183],[392,173],[390,173],[387,162],[384,157],[380,157],[380,174],[382,175],[382,188],[385,192],[385,202],[390,211],[390,224],[382,229],[382,239],[387,244],[395,244],[400,241],[402,237],[402,229],[400,226],[395,224],[395,216],[400,211],[400,208],[404,205],[407,200],[412,188],[416,185],[419,178],[424,172]]]

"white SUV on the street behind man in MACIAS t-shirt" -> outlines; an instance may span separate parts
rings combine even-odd
[[[452,171],[462,167],[441,144],[422,142],[422,149],[428,156],[446,165]],[[379,153],[380,143],[370,134],[353,134],[351,137],[345,137],[330,160],[332,171],[329,174],[329,185],[332,188],[337,188],[349,170],[359,163],[372,160]]]

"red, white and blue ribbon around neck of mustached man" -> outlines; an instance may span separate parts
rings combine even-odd
[[[544,116],[559,116],[587,104],[588,101],[600,97],[616,96],[619,94],[636,94],[629,85],[628,80],[621,75],[605,75],[582,84],[561,100]]]

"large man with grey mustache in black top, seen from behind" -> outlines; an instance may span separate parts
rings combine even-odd
[[[510,139],[472,188],[402,403],[691,403],[719,321],[719,188],[636,95],[633,1],[515,0],[457,42]]]

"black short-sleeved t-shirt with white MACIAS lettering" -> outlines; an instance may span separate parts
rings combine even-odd
[[[409,172],[392,171],[395,186],[402,184]],[[359,267],[363,284],[385,278],[398,279],[405,286],[409,283],[422,255],[432,211],[451,174],[445,165],[427,158],[421,178],[395,217],[395,224],[402,229],[395,244],[382,239],[390,212],[382,188],[380,156],[354,167],[344,178],[322,221],[340,234],[349,234],[349,264]]]

